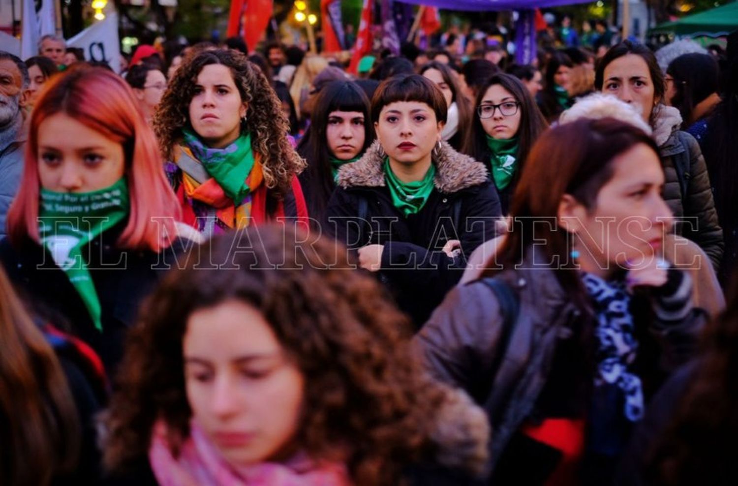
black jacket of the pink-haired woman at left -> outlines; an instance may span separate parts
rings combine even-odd
[[[160,254],[121,250],[115,243],[126,224],[119,223],[82,249],[103,311],[102,332],[49,251],[31,240],[20,249],[7,238],[0,242],[0,262],[32,313],[89,344],[108,376],[123,357],[125,333],[134,324],[139,304],[164,276],[166,265],[173,264],[174,255],[192,243],[176,240]]]

